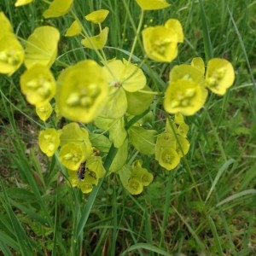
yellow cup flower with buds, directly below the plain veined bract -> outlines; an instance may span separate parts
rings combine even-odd
[[[20,76],[20,89],[27,102],[43,105],[55,96],[55,79],[48,67],[36,64]]]

